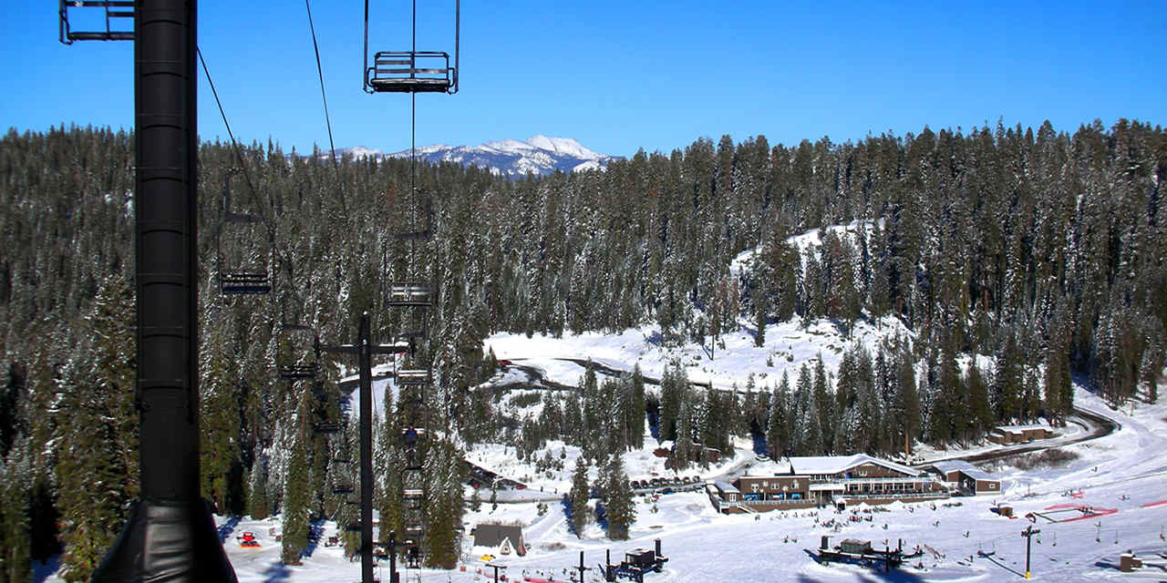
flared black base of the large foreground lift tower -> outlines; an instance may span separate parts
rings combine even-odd
[[[134,503],[92,583],[237,583],[205,503]]]

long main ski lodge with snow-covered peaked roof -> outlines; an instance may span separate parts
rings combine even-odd
[[[732,484],[706,483],[710,501],[721,513],[808,508],[824,504],[888,504],[949,497],[934,476],[868,455],[791,457],[787,469],[768,476],[742,476]]]

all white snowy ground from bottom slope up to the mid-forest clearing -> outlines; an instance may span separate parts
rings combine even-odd
[[[868,346],[895,335],[908,335],[894,321],[879,326],[860,324],[855,335],[878,335],[865,339]],[[552,339],[536,336],[526,338],[516,335],[497,335],[487,340],[499,359],[512,359],[516,364],[537,366],[550,380],[575,385],[584,368],[565,358],[592,358],[594,361],[616,370],[631,370],[636,364],[649,377],[658,377],[664,367],[676,359],[689,366],[693,380],[712,380],[715,386],[738,385],[745,388],[746,378],[755,373],[759,387],[776,382],[783,370],[795,372],[803,361],[823,354],[827,370],[838,366],[839,352],[847,342],[833,330],[830,323],[812,325],[801,330],[794,324],[771,325],[767,330],[767,346],[753,346],[747,332],[726,335],[726,350],[719,351],[713,360],[699,346],[665,349],[655,342],[658,338],[651,329],[629,330],[621,335],[580,335]],[[785,343],[785,345],[783,345]],[[783,349],[791,354],[787,359]],[[771,364],[767,363],[770,359]],[[761,373],[767,373],[762,377]],[[522,380],[515,371],[506,372]],[[508,379],[499,377],[496,382]],[[392,385],[379,381],[379,393]],[[354,401],[354,405],[356,402]],[[670,557],[665,570],[649,575],[645,581],[701,582],[701,581],[752,581],[752,582],[865,582],[865,581],[1013,581],[1022,578],[1025,571],[1025,539],[1021,531],[1030,525],[1026,514],[1049,512],[1057,519],[1081,517],[1078,511],[1064,505],[1091,506],[1116,512],[1074,521],[1050,524],[1036,519],[1035,528],[1041,533],[1033,540],[1032,571],[1035,580],[1057,582],[1093,582],[1119,578],[1135,581],[1160,581],[1167,573],[1156,567],[1146,567],[1141,573],[1119,574],[1118,555],[1133,549],[1147,564],[1167,564],[1159,553],[1167,552],[1163,528],[1167,526],[1167,405],[1137,406],[1133,416],[1130,409],[1111,410],[1093,394],[1078,387],[1076,405],[1113,420],[1119,429],[1113,434],[1062,449],[1077,454],[1077,458],[1061,465],[1044,466],[1026,463],[1035,454],[994,462],[990,466],[1002,479],[1002,492],[995,497],[953,498],[937,504],[895,504],[888,512],[859,512],[871,517],[871,521],[851,522],[845,519],[854,510],[837,514],[833,510],[796,511],[788,513],[764,513],[759,515],[720,515],[713,511],[707,497],[700,492],[679,492],[651,498],[638,498],[637,521],[631,528],[631,540],[614,542],[603,536],[595,524],[576,539],[567,531],[561,506],[555,501],[569,484],[571,471],[580,455],[576,448],[559,442],[548,443],[545,451],[558,458],[562,452],[562,469],[550,475],[536,473],[530,462],[515,458],[513,447],[480,444],[468,451],[468,458],[502,476],[524,482],[525,491],[499,491],[497,507],[487,501],[488,491],[482,491],[478,511],[468,511],[463,526],[469,531],[483,521],[518,522],[524,526],[524,539],[531,546],[526,556],[499,556],[496,562],[508,566],[511,578],[523,575],[547,576],[568,581],[565,571],[579,561],[585,552],[585,563],[596,567],[610,550],[613,560],[623,557],[633,548],[651,548],[655,539],[661,539],[663,552]],[[538,406],[534,406],[538,407]],[[534,410],[534,409],[531,409]],[[1071,423],[1060,429],[1060,436],[1051,443],[1065,443],[1082,437],[1092,428]],[[652,476],[671,476],[664,470],[663,461],[651,455],[656,442],[647,440],[644,450],[629,452],[624,457],[631,479]],[[732,476],[749,471],[764,472],[771,462],[754,459],[749,443],[735,443],[735,456],[708,470],[691,470],[685,476],[698,475],[703,479]],[[917,452],[929,458],[948,457],[953,454],[984,452],[1000,449],[997,445],[974,445],[959,452],[921,449]],[[541,454],[541,452],[540,452]],[[1021,468],[1026,469],[1021,469]],[[776,466],[775,466],[776,468]],[[595,470],[593,470],[593,478]],[[541,492],[540,492],[541,489]],[[545,500],[547,511],[540,515],[537,499]],[[516,501],[519,500],[519,501]],[[527,501],[522,501],[527,500]],[[955,503],[960,503],[956,506]],[[992,512],[998,503],[1013,505],[1015,519],[1007,519]],[[1155,504],[1165,503],[1165,504]],[[652,508],[656,507],[656,512]],[[843,526],[831,529],[823,522],[836,519]],[[219,519],[226,524],[226,519]],[[279,563],[279,545],[267,535],[278,520],[250,521],[243,519],[233,526],[233,534],[252,531],[264,545],[261,549],[242,549],[228,540],[228,554],[240,582],[288,581],[315,583],[323,581],[357,581],[359,563],[348,562],[337,548],[317,547],[306,557],[302,567],[285,567]],[[326,535],[335,533],[335,525],[326,524]],[[874,546],[895,546],[903,539],[907,549],[924,545],[937,554],[925,552],[900,571],[880,574],[871,569],[852,566],[822,566],[815,562],[805,549],[818,546],[819,536],[830,534],[832,541],[855,538],[873,541]],[[467,570],[410,571],[403,581],[469,583],[491,581],[478,574],[484,561],[484,548],[471,547],[473,540],[463,542],[463,564]],[[980,556],[978,552],[991,554]],[[378,568],[380,578],[389,580],[387,566]],[[485,570],[484,570],[485,571]],[[596,570],[588,571],[587,581],[600,581]]]

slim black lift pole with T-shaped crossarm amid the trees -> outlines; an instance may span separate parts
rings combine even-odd
[[[372,583],[372,354],[400,354],[408,347],[372,344],[366,311],[361,314],[356,344],[321,346],[321,350],[357,357],[361,382],[361,583]],[[396,576],[396,564],[391,563],[391,576]]]

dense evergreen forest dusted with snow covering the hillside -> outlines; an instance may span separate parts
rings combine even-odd
[[[92,127],[0,139],[0,583],[30,581],[30,561],[58,554],[64,578],[88,580],[138,496],[133,143]],[[373,339],[387,342],[417,325],[386,308],[393,282],[438,290],[415,357],[434,371],[426,521],[447,526],[422,541],[432,566],[457,561],[459,459],[474,443],[547,466],[561,465],[538,457],[547,440],[580,445],[603,468],[619,536],[633,517],[612,454],[644,447],[647,419],[683,466],[731,436],[761,434],[771,455],[887,454],[906,438],[969,443],[1001,422],[1061,423],[1071,379],[1116,407],[1158,398],[1167,132],[1139,121],[792,146],[726,135],[522,180],[334,162],[273,142],[207,142],[200,163],[203,494],[219,514],[284,514],[287,562],[313,521],[355,520],[343,491],[357,447],[352,423],[313,430],[345,419],[341,378],[354,363],[326,358],[314,381],[280,380],[281,323],[342,344],[368,311]],[[225,223],[225,209],[263,220]],[[394,237],[424,223],[431,240]],[[824,229],[845,224],[859,229]],[[820,245],[788,243],[815,229]],[[732,273],[748,250],[748,269]],[[239,264],[271,274],[272,293],[221,295],[219,274]],[[712,346],[750,329],[764,345],[766,323],[846,331],[885,318],[910,335],[848,346],[834,372],[819,359],[739,391],[694,388],[680,366],[649,388],[638,371],[589,371],[565,398],[546,396],[540,417],[511,419],[497,394],[475,389],[497,366],[483,339],[499,331],[656,325],[666,346]],[[417,419],[406,406],[386,400],[373,434],[377,507],[391,522],[405,487],[391,471],[396,436]]]

